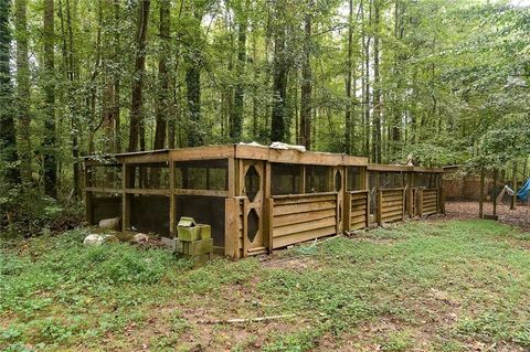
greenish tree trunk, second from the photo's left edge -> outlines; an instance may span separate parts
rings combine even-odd
[[[24,182],[31,181],[31,116],[30,116],[30,67],[28,60],[28,0],[14,2],[17,33],[17,108],[20,130],[21,174]]]

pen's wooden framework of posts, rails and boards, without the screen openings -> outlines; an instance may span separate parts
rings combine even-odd
[[[226,170],[226,184],[223,189],[188,189],[182,180],[182,185],[177,186],[176,168],[180,162],[197,161],[198,167],[208,160],[225,160],[221,164]],[[300,182],[297,194],[272,195],[273,164],[300,166]],[[224,199],[224,254],[240,258],[248,255],[272,253],[276,248],[294,243],[315,239],[321,236],[339,234],[342,231],[367,228],[370,225],[370,191],[369,175],[377,177],[377,222],[403,221],[405,216],[414,216],[414,204],[417,202],[418,214],[442,213],[444,210],[444,195],[442,184],[435,190],[424,190],[416,184],[415,175],[422,173],[439,174],[443,169],[420,168],[411,166],[369,164],[367,158],[336,154],[328,152],[303,152],[296,149],[273,149],[267,147],[247,145],[205,146],[197,148],[163,149],[147,152],[127,152],[114,156],[85,157],[85,202],[86,218],[94,223],[94,193],[119,194],[121,196],[121,227],[127,231],[131,226],[131,198],[137,195],[167,196],[169,212],[169,236],[177,235],[177,202],[178,196],[198,196]],[[208,164],[208,162],[206,162]],[[91,182],[89,168],[112,166],[121,167],[121,186],[95,186]],[[135,167],[169,168],[169,186],[166,188],[132,188]],[[245,173],[254,166],[259,177],[258,190],[254,201],[246,196]],[[326,167],[329,182],[327,190],[306,193],[306,167]],[[351,190],[349,182],[349,168],[360,168],[360,185]],[[180,167],[183,168],[183,167]],[[206,179],[210,177],[210,167],[206,168]],[[182,171],[183,172],[183,171]],[[356,171],[357,172],[357,171]],[[380,172],[401,172],[404,174],[403,188],[380,189]],[[340,184],[336,184],[340,174]],[[184,177],[183,177],[184,178]],[[218,179],[219,180],[219,179]],[[155,183],[157,184],[157,183]],[[98,184],[99,185],[99,184]],[[152,184],[151,184],[152,185]],[[350,189],[350,190],[348,190]],[[435,192],[435,193],[434,193]],[[424,195],[425,193],[425,195]],[[136,195],[135,195],[136,194]],[[433,194],[436,194],[434,198]],[[417,200],[416,200],[417,198]],[[136,199],[136,198],[135,198]],[[435,202],[434,202],[435,200]],[[428,202],[427,202],[428,201]],[[398,204],[399,202],[400,204]],[[181,206],[181,205],[179,205]],[[428,212],[424,212],[428,210]],[[180,210],[182,211],[182,209]],[[258,217],[258,235],[252,241],[247,236],[248,214],[256,212]],[[256,239],[258,238],[258,239]],[[256,243],[258,241],[259,243]]]

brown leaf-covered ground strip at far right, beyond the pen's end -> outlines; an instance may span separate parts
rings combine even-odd
[[[449,218],[478,218],[478,202],[445,202],[445,212]],[[484,214],[492,214],[492,203],[484,203]],[[509,204],[497,205],[497,215],[501,223],[530,231],[530,206],[518,203],[515,210]]]

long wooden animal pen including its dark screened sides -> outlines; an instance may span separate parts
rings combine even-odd
[[[212,226],[218,253],[236,258],[368,227],[369,178],[384,168],[399,169],[407,183],[381,186],[378,179],[378,222],[409,214],[410,184],[413,196],[423,195],[416,207],[433,210],[431,184],[411,183],[415,168],[369,166],[347,154],[230,145],[93,156],[84,164],[91,224],[120,217],[123,231],[174,237],[178,220],[191,216]]]

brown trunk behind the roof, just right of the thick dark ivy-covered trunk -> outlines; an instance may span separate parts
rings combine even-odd
[[[307,150],[311,149],[311,94],[312,94],[312,72],[311,72],[311,22],[312,22],[312,1],[309,1],[304,24],[304,52],[301,61],[301,84],[300,84],[300,139],[299,145],[305,146]]]

